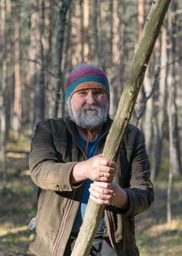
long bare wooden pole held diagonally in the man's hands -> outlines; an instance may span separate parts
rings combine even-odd
[[[116,160],[120,146],[124,140],[126,127],[131,118],[138,91],[144,80],[148,61],[170,2],[171,0],[157,0],[153,1],[151,6],[143,35],[128,72],[126,86],[119,101],[114,123],[106,137],[103,157],[108,160]],[[103,210],[104,206],[96,204],[89,198],[84,221],[71,256],[88,255],[102,218]]]

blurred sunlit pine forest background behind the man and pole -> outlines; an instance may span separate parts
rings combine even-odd
[[[66,115],[66,78],[80,63],[106,72],[116,109],[151,0],[0,0],[0,256],[33,255],[36,190],[28,170],[35,123]],[[145,133],[155,188],[136,218],[142,256],[182,255],[182,2],[167,10],[130,123]]]

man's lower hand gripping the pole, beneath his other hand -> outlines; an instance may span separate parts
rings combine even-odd
[[[94,182],[89,188],[90,197],[99,205],[113,205],[126,209],[128,200],[125,190],[116,182]]]

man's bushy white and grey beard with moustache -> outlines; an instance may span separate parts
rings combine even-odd
[[[104,108],[95,105],[85,105],[81,110],[76,110],[71,101],[71,109],[76,125],[93,131],[96,127],[106,123],[109,105],[108,101],[106,101]]]

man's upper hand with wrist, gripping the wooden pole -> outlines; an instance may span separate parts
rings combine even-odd
[[[71,183],[75,184],[86,178],[93,181],[110,182],[116,175],[117,169],[116,162],[108,161],[101,155],[96,155],[74,166],[71,174]]]

